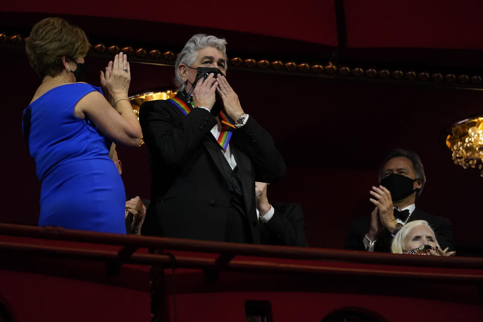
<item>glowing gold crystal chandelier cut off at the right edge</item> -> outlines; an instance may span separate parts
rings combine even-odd
[[[468,118],[451,126],[446,146],[453,152],[454,164],[464,169],[483,168],[483,116]],[[479,175],[483,177],[483,171]]]

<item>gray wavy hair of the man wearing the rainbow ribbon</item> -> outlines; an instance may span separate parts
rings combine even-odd
[[[180,72],[178,67],[180,64],[185,64],[191,66],[195,63],[196,58],[198,57],[198,50],[206,48],[206,47],[213,47],[220,50],[225,56],[226,59],[226,40],[223,38],[217,38],[215,36],[209,36],[206,34],[196,34],[188,40],[185,44],[185,47],[176,58],[175,63],[175,82],[176,86],[178,86],[179,91],[184,91],[186,84],[183,82],[181,78]],[[225,70],[227,67],[225,67]]]

